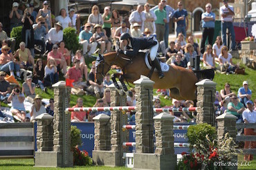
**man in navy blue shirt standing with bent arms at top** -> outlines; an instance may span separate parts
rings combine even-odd
[[[180,32],[186,37],[188,30],[188,12],[183,9],[182,1],[178,2],[178,9],[174,12],[174,22],[177,23],[176,35],[178,36]],[[187,23],[186,23],[187,21]]]

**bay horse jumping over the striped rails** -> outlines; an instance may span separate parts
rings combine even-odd
[[[150,71],[145,64],[145,53],[138,53],[138,55],[134,56],[133,59],[129,59],[126,55],[113,51],[104,55],[99,55],[96,59],[95,79],[98,84],[102,84],[104,75],[106,75],[113,65],[122,68],[122,79],[120,79],[122,85],[124,85],[123,79],[127,82],[133,83],[137,79],[140,79],[140,75],[148,76]],[[199,82],[199,79],[192,70],[169,65],[169,70],[164,72],[164,74],[165,77],[163,77],[163,79],[159,79],[158,72],[154,71],[150,78],[155,82],[154,88],[170,88],[170,97],[176,100],[196,99],[195,84],[196,82]],[[205,74],[203,77],[205,77]],[[113,82],[115,79],[116,78],[113,79]],[[114,84],[115,86],[118,85],[116,82],[114,82]]]

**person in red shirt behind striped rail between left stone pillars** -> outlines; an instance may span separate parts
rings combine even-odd
[[[77,108],[77,107],[83,107],[83,100],[81,97],[79,97],[76,101],[75,106],[72,108]],[[72,111],[71,112],[71,122],[86,122],[87,117],[86,111]]]

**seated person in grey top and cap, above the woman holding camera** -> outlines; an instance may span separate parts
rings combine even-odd
[[[27,76],[26,81],[22,84],[22,91],[30,103],[34,102],[35,98],[35,83],[32,82],[32,76]]]

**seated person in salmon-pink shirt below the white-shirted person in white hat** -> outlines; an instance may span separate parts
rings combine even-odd
[[[58,52],[57,44],[53,45],[53,50],[48,53],[47,60],[53,59],[57,64],[57,71],[63,70],[63,74],[66,75],[66,59],[62,56],[62,53]]]

